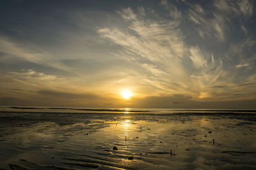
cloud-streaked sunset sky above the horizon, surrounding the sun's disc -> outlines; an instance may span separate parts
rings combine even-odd
[[[255,10],[247,0],[0,1],[0,105],[256,109]]]

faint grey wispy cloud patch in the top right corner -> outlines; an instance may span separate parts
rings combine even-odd
[[[227,41],[227,34],[230,28],[234,27],[237,22],[242,22],[252,17],[253,3],[252,1],[211,1],[212,6],[200,6],[192,2],[185,1],[189,6],[188,18],[196,24],[196,30],[201,38],[212,37],[214,34],[218,41]],[[233,19],[236,19],[236,25],[232,25]],[[242,27],[245,34],[247,31]]]

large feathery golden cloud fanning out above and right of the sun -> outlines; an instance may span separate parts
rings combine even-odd
[[[198,6],[196,9],[204,11]],[[209,87],[223,73],[222,60],[214,60],[212,53],[198,46],[186,45],[179,27],[180,21],[159,18],[149,20],[147,16],[134,13],[131,8],[118,13],[128,24],[128,29],[105,27],[98,32],[102,38],[108,38],[122,47],[121,52],[115,55],[131,64],[138,64],[134,70],[138,73],[137,81],[154,86],[155,92],[184,92],[199,96],[198,91]],[[194,68],[186,67],[191,64]],[[147,71],[148,76],[143,74],[145,72],[141,67]],[[197,76],[192,77],[191,72]]]

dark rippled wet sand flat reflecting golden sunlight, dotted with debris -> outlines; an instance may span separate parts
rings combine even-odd
[[[256,169],[255,127],[252,113],[2,111],[0,169]]]

